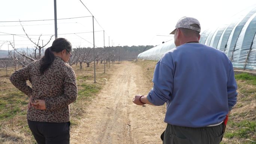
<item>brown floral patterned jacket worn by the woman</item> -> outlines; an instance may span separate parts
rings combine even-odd
[[[40,60],[15,71],[10,76],[12,84],[24,94],[45,100],[46,110],[31,107],[27,119],[38,122],[68,122],[70,113],[68,105],[77,98],[76,75],[73,68],[55,56],[52,65],[40,74]],[[26,82],[30,81],[32,87]]]

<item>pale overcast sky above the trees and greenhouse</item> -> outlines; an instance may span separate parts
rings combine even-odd
[[[159,45],[172,39],[169,33],[183,16],[195,17],[202,31],[218,27],[236,13],[256,6],[254,0],[82,0],[95,16],[95,45],[105,46]],[[54,19],[54,0],[1,0],[0,21]],[[57,0],[57,18],[91,16],[80,0]],[[21,22],[28,35],[53,35],[54,21]],[[101,28],[102,27],[102,28]],[[58,20],[58,37],[67,38],[73,45],[92,47],[92,17]],[[12,41],[10,34],[25,34],[19,22],[0,22],[0,46]],[[69,34],[77,33],[77,34]],[[80,34],[79,34],[80,33]],[[157,36],[161,35],[161,36]],[[35,42],[39,36],[30,36]],[[46,43],[50,36],[42,36]],[[33,47],[26,36],[14,36],[16,48]],[[54,37],[53,37],[54,39]],[[112,43],[113,40],[113,43]],[[40,41],[42,43],[42,41]],[[52,41],[49,43],[51,46]],[[8,45],[1,49],[7,49]]]

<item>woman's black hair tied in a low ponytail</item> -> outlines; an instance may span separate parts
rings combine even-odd
[[[72,45],[68,42],[67,39],[58,38],[52,42],[52,46],[45,50],[45,55],[40,60],[40,73],[43,74],[47,68],[49,68],[52,62],[55,59],[54,53],[52,52],[61,52],[62,50],[67,50],[71,52]]]

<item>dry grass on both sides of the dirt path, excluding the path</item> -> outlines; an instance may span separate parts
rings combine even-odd
[[[153,85],[152,77],[156,62],[139,60],[136,63],[141,66],[144,79],[150,86]],[[96,69],[97,83],[94,83],[93,65],[89,68],[83,65],[82,70],[79,69],[79,65],[73,65],[77,75],[79,95],[77,101],[70,105],[71,129],[76,129],[82,123],[86,123],[80,120],[81,115],[88,113],[87,105],[110,78],[111,71],[115,70],[115,67],[118,65],[111,65],[111,68],[106,65],[106,73],[104,74],[103,65],[98,65]],[[8,75],[5,76],[5,70],[0,69],[0,143],[33,144],[35,140],[26,122],[28,98],[10,83],[9,75],[13,71],[14,69],[10,68]],[[236,74],[236,78],[239,95],[237,104],[229,117],[222,144],[255,144],[256,142],[253,142],[256,141],[256,85],[254,77]],[[160,108],[159,111],[165,113],[165,107]],[[146,117],[145,119],[149,120]],[[149,136],[149,139],[150,137],[152,136]]]

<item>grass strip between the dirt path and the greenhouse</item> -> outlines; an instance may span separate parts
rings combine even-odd
[[[138,60],[147,82],[151,80],[157,61]],[[256,76],[236,73],[237,104],[229,117],[222,144],[256,144]],[[163,110],[165,111],[165,110]]]

